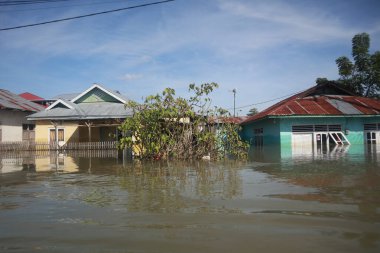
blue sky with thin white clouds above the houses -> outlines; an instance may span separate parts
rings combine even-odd
[[[0,6],[0,27],[153,1]],[[217,82],[214,105],[232,108],[235,88],[236,106],[247,106],[307,89],[317,77],[336,79],[335,59],[350,56],[357,33],[369,33],[380,50],[379,13],[377,0],[176,0],[2,31],[0,88],[50,98],[100,83],[141,101],[165,87],[187,96],[190,83]]]

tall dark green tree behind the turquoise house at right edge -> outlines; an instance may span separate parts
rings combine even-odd
[[[378,97],[380,91],[380,51],[369,53],[370,37],[367,33],[352,38],[352,62],[348,57],[336,59],[339,82],[351,91],[365,97]]]

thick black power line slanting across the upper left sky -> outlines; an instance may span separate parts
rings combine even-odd
[[[20,29],[20,28],[31,27],[31,26],[38,26],[38,25],[46,25],[46,24],[51,24],[51,23],[58,23],[58,22],[67,21],[67,20],[92,17],[92,16],[96,16],[96,15],[101,15],[101,14],[107,14],[107,13],[112,13],[112,12],[117,12],[117,11],[136,9],[136,8],[140,8],[140,7],[146,7],[146,6],[150,6],[150,5],[163,4],[163,3],[173,2],[173,1],[175,1],[175,0],[165,0],[165,1],[147,3],[147,4],[140,4],[140,5],[125,7],[125,8],[108,10],[108,11],[102,11],[102,12],[96,12],[96,13],[90,13],[90,14],[81,15],[81,16],[75,16],[75,17],[70,17],[70,18],[55,19],[55,20],[45,21],[45,22],[41,22],[41,23],[34,23],[34,24],[29,24],[29,25],[20,25],[20,26],[14,26],[14,27],[1,28],[0,31],[8,31],[8,30]]]

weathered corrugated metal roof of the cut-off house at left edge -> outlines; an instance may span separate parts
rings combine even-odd
[[[10,91],[0,89],[0,108],[28,112],[39,112],[45,108],[39,104],[26,100]]]

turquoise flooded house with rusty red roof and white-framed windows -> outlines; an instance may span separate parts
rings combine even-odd
[[[334,84],[316,85],[241,123],[251,145],[303,153],[331,146],[380,143],[380,101]]]

